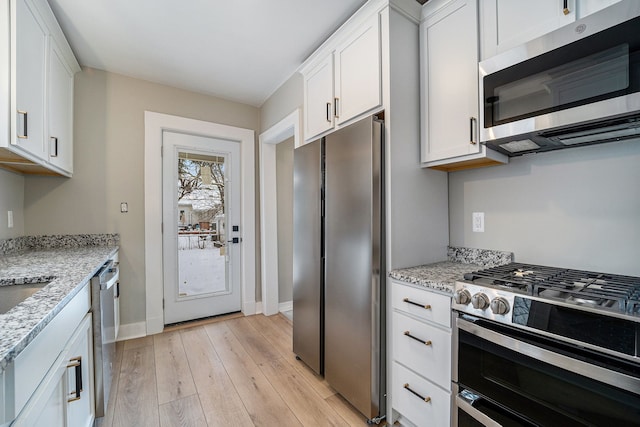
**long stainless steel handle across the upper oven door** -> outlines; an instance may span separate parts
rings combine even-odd
[[[622,388],[632,393],[640,390],[640,378],[635,378],[621,372],[612,371],[603,367],[583,362],[578,359],[556,353],[525,341],[509,337],[507,335],[492,331],[482,326],[476,325],[463,318],[456,318],[456,326],[470,334],[483,338],[489,342],[497,344],[516,353],[541,360],[550,365],[557,366],[574,374],[595,379],[614,387]]]

